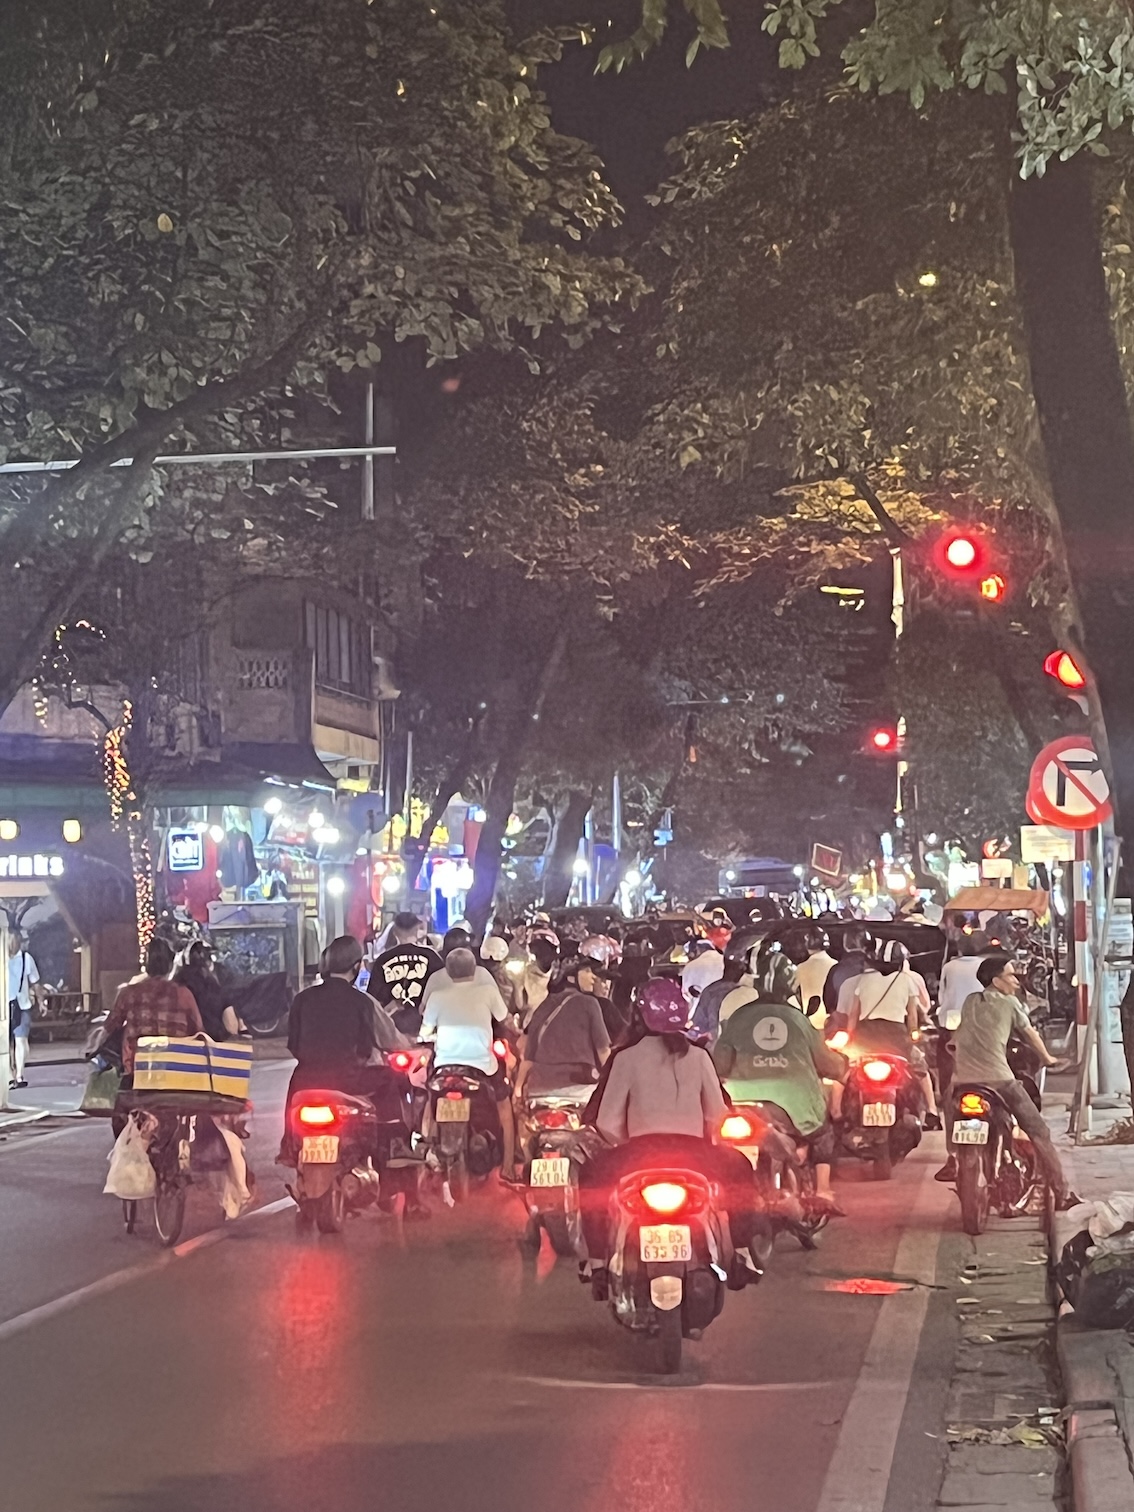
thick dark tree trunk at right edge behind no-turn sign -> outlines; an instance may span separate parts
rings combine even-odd
[[[1051,494],[1092,674],[1092,732],[1134,856],[1134,432],[1092,198],[1092,163],[1015,178],[1010,233]],[[1129,875],[1129,872],[1126,874]],[[1123,1013],[1134,1064],[1134,1013]]]

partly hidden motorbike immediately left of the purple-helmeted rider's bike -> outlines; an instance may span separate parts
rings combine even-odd
[[[579,1167],[576,1152],[590,1131],[582,1129],[582,1110],[594,1086],[561,1087],[525,1099],[520,1122],[525,1207],[528,1226],[523,1244],[538,1250],[547,1234],[556,1255],[581,1253]]]

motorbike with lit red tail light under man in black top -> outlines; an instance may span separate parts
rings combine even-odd
[[[330,1089],[296,1092],[287,1123],[295,1145],[295,1185],[287,1191],[299,1228],[314,1225],[321,1234],[340,1234],[348,1213],[378,1201],[375,1107],[369,1098]]]

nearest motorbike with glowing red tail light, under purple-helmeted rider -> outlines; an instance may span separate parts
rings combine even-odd
[[[632,1172],[611,1193],[606,1279],[591,1278],[591,1294],[623,1328],[658,1338],[665,1374],[724,1306],[733,1249],[714,1199],[708,1176],[679,1166]]]

